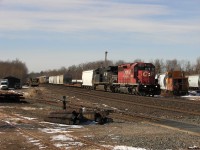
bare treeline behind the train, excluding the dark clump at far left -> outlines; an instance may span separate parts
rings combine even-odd
[[[144,62],[141,59],[135,59],[132,62]],[[131,63],[132,63],[131,62]],[[118,60],[116,62],[108,60],[105,64],[105,61],[94,61],[94,62],[87,62],[87,63],[81,63],[79,65],[72,65],[68,68],[62,67],[60,69],[54,69],[54,70],[47,70],[47,71],[41,71],[40,73],[31,73],[31,76],[53,76],[53,75],[59,75],[59,74],[68,74],[71,75],[74,79],[81,79],[82,71],[84,70],[90,70],[90,69],[96,69],[99,67],[104,67],[105,65],[108,66],[115,66],[120,65],[124,63],[130,63],[123,60]],[[151,60],[150,63],[153,63],[156,68],[156,73],[164,73],[166,71],[170,70],[182,70],[185,71],[186,75],[191,74],[200,74],[200,57],[197,58],[195,64],[191,64],[190,61],[187,60],[163,60],[163,59],[155,59]]]

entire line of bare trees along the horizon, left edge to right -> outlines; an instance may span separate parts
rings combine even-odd
[[[144,61],[141,59],[135,59],[132,62],[144,62]],[[108,60],[107,63],[105,63],[105,61],[102,60],[102,61],[81,63],[79,65],[72,65],[72,66],[69,66],[68,68],[62,67],[60,69],[41,71],[40,73],[32,72],[28,74],[28,69],[26,67],[26,64],[16,59],[13,61],[0,61],[0,78],[14,76],[21,79],[22,83],[25,83],[28,77],[34,78],[34,77],[43,76],[43,75],[53,76],[53,75],[60,75],[60,74],[68,74],[68,75],[71,75],[74,79],[81,79],[82,71],[84,70],[105,67],[105,65],[115,66],[115,65],[120,65],[124,63],[130,63],[130,62],[126,62],[123,60],[118,60],[114,62],[114,61]],[[177,59],[173,59],[173,60],[155,59],[155,60],[151,60],[150,63],[153,63],[155,65],[156,73],[158,74],[164,73],[170,70],[182,70],[182,71],[185,71],[186,75],[200,74],[200,57],[196,59],[196,63],[194,64],[191,64],[190,61],[187,61],[187,60],[179,61]]]

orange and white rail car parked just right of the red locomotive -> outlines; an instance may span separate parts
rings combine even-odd
[[[183,71],[169,71],[158,75],[158,84],[163,93],[186,95],[188,93],[188,78]]]

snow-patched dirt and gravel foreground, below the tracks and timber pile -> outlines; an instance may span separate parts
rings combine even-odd
[[[35,94],[29,89],[24,102],[0,103],[0,149],[200,149],[199,136],[146,121],[113,118],[104,125],[45,122],[52,108],[29,102]]]

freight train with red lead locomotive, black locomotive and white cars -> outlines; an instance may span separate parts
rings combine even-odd
[[[69,81],[70,78],[65,76],[49,77],[51,84],[69,84]],[[103,86],[105,91],[134,95],[160,94],[160,86],[155,81],[155,66],[151,63],[128,63],[82,72],[81,87],[95,90],[99,86]]]

